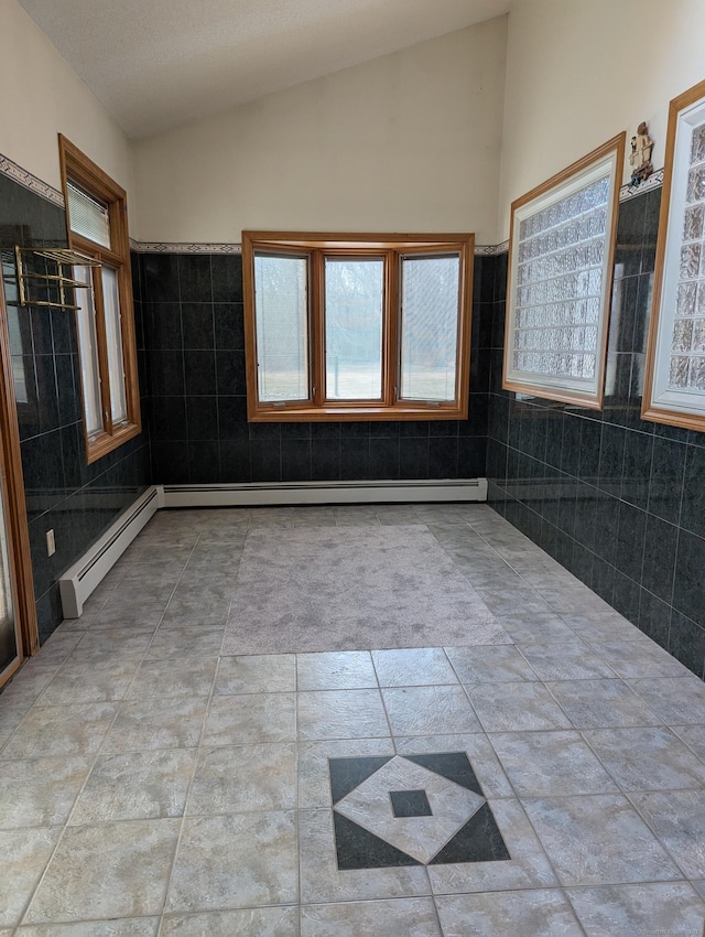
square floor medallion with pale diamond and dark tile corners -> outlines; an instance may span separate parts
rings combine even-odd
[[[464,752],[329,758],[338,870],[510,859]]]

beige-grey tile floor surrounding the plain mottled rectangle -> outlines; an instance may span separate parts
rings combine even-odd
[[[249,529],[410,523],[512,645],[219,656]],[[704,729],[705,685],[485,505],[164,511],[0,696],[0,935],[701,937]],[[336,841],[394,827],[375,789],[414,795],[410,864]],[[476,823],[434,861],[477,804],[506,852]]]

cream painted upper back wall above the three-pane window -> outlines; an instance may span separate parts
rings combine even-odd
[[[506,31],[501,17],[137,141],[133,236],[474,230],[495,243]]]

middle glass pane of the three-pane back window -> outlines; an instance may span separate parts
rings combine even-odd
[[[326,258],[326,397],[381,400],[384,261]]]

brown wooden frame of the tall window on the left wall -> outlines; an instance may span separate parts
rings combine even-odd
[[[112,450],[133,439],[142,431],[140,417],[140,388],[138,383],[137,342],[134,337],[134,306],[132,300],[132,274],[130,270],[130,238],[128,234],[127,193],[93,160],[58,134],[58,153],[62,187],[66,205],[66,230],[70,248],[86,254],[117,271],[120,302],[120,331],[122,337],[122,363],[124,369],[124,394],[127,421],[113,426],[111,418],[110,375],[106,340],[106,320],[102,301],[100,267],[93,268],[93,292],[96,313],[96,344],[98,374],[100,378],[100,410],[102,429],[90,438],[85,429],[86,459],[96,462]],[[110,248],[72,231],[68,209],[67,183],[72,182],[88,195],[108,206],[110,223]],[[80,349],[79,349],[80,355]],[[83,397],[83,387],[82,387]]]

